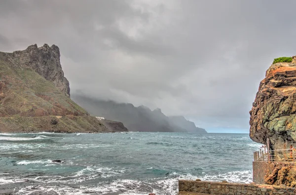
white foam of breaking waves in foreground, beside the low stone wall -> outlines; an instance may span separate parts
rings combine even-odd
[[[105,168],[106,169],[106,168]],[[111,168],[107,168],[111,169]],[[174,195],[178,192],[178,180],[179,179],[189,179],[195,180],[200,178],[204,181],[222,181],[226,180],[228,182],[239,182],[239,183],[249,183],[252,182],[252,171],[232,171],[219,175],[204,175],[202,177],[194,176],[191,174],[179,175],[177,173],[170,174],[167,178],[158,181],[137,181],[131,179],[118,179],[114,180],[111,183],[98,183],[95,186],[84,186],[79,185],[79,188],[69,187],[69,183],[82,182],[91,177],[83,177],[85,174],[84,171],[93,171],[92,167],[87,167],[77,172],[74,176],[81,176],[80,178],[73,177],[61,177],[55,176],[51,177],[51,181],[44,181],[46,176],[40,176],[35,178],[36,181],[41,181],[46,186],[37,185],[37,186],[26,186],[22,188],[17,195],[29,195],[29,194],[38,194],[38,193],[56,193],[63,195],[80,195],[80,194],[111,194],[119,193],[120,195],[147,195],[148,193],[155,193],[159,195]],[[74,179],[76,181],[74,182]],[[19,180],[21,182],[21,180]],[[52,185],[56,182],[62,182],[67,185]],[[32,190],[32,187],[33,190]]]

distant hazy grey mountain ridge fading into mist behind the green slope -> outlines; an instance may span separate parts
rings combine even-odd
[[[204,129],[196,127],[193,122],[186,120],[184,116],[184,120],[175,120],[179,116],[166,116],[159,108],[151,111],[143,105],[135,107],[130,103],[97,100],[78,94],[72,94],[72,98],[89,113],[120,121],[130,131],[207,133]]]

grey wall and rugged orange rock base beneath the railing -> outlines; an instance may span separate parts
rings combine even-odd
[[[296,164],[293,162],[253,162],[256,184],[296,187]]]

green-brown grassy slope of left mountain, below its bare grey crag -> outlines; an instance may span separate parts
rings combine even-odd
[[[54,82],[25,66],[26,63],[19,66],[14,57],[18,53],[0,52],[0,132],[112,131]]]

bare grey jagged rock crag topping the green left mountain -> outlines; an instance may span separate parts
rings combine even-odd
[[[26,50],[6,53],[6,60],[15,67],[30,68],[51,81],[60,91],[70,97],[69,81],[64,77],[58,46],[44,44],[29,46]]]

